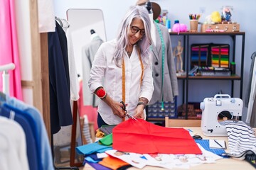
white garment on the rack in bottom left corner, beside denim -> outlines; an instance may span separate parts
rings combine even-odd
[[[3,116],[0,116],[0,125],[1,170],[31,169],[31,166],[28,166],[25,132],[21,125]]]

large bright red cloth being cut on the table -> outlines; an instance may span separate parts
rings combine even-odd
[[[129,119],[113,128],[113,149],[139,154],[202,154],[188,130],[137,120]]]

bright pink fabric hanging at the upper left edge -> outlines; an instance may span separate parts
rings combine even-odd
[[[15,1],[0,1],[0,65],[14,63],[15,69],[9,72],[9,94],[23,100],[21,91],[21,68],[18,55],[18,40],[16,33]],[[3,89],[3,79],[0,76],[0,91]]]

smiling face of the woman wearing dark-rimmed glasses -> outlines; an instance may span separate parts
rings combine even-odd
[[[144,23],[140,18],[134,18],[128,29],[129,43],[136,44],[145,35]]]

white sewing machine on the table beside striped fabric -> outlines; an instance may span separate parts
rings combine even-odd
[[[242,100],[228,94],[216,94],[200,103],[202,110],[201,130],[206,136],[227,136],[225,120],[240,120]]]

